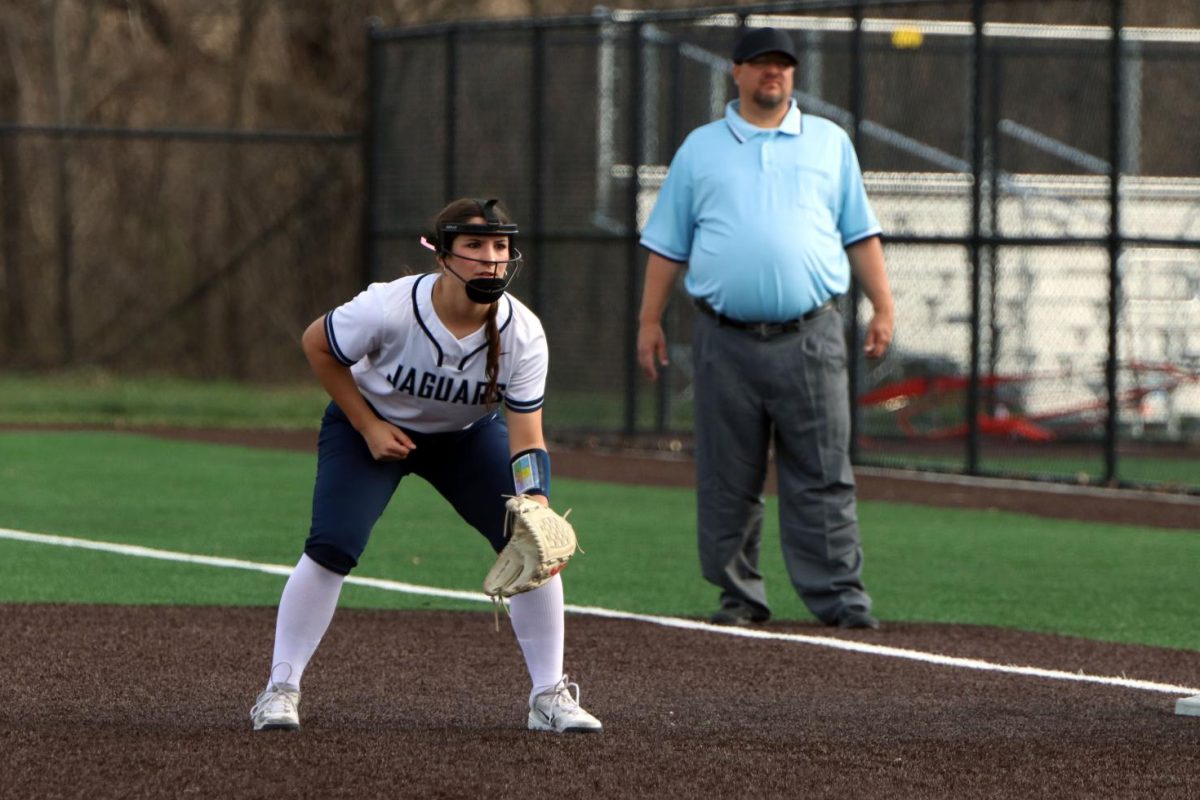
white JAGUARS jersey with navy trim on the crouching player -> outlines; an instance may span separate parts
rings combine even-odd
[[[367,402],[389,422],[421,433],[461,431],[491,411],[486,330],[461,339],[446,330],[433,311],[438,279],[426,272],[372,283],[325,315],[329,349],[350,367]],[[546,333],[516,297],[498,302],[500,397],[510,411],[536,411],[546,393]]]

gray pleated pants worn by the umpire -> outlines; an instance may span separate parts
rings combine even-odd
[[[722,606],[769,612],[758,571],[772,444],[784,563],[818,619],[869,609],[863,588],[841,314],[773,338],[697,314],[696,510],[704,579]]]

